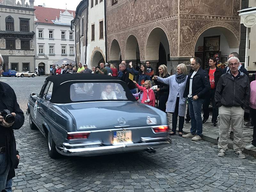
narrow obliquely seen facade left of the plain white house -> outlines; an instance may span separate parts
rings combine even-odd
[[[83,0],[76,7],[76,16],[72,21],[76,32],[76,63],[83,65],[87,58],[87,15],[88,0]]]

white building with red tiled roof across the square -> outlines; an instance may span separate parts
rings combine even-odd
[[[75,61],[75,31],[70,29],[75,11],[34,6],[36,68],[51,73],[52,65],[68,58]]]

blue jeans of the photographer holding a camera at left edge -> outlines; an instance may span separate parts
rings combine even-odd
[[[6,166],[8,164],[9,163],[6,161],[5,153],[0,153],[0,191],[4,190],[4,188],[5,188],[5,184],[6,184],[10,166],[8,167],[6,172],[4,172],[4,170],[6,169]]]

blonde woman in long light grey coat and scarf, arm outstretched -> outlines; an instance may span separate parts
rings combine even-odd
[[[168,84],[170,87],[169,97],[166,105],[169,128],[171,128],[172,119],[172,132],[170,132],[170,135],[176,134],[178,116],[179,136],[183,135],[184,116],[187,104],[187,100],[183,98],[183,93],[185,90],[187,78],[187,67],[183,63],[177,66],[177,73],[175,73],[175,75],[169,76],[167,78],[154,76],[154,79],[161,83]]]

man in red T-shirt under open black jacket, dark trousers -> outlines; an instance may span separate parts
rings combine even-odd
[[[217,64],[217,60],[214,57],[211,57],[209,59],[209,67],[204,69],[209,76],[211,90],[209,91],[208,95],[206,95],[204,98],[203,123],[206,123],[207,119],[209,118],[209,104],[210,104],[210,101],[212,100],[212,126],[217,126],[217,117],[219,114],[219,109],[215,106],[214,95],[215,95],[215,90],[216,90],[218,81],[220,79],[220,76],[222,75],[222,69],[216,67],[216,64]]]

